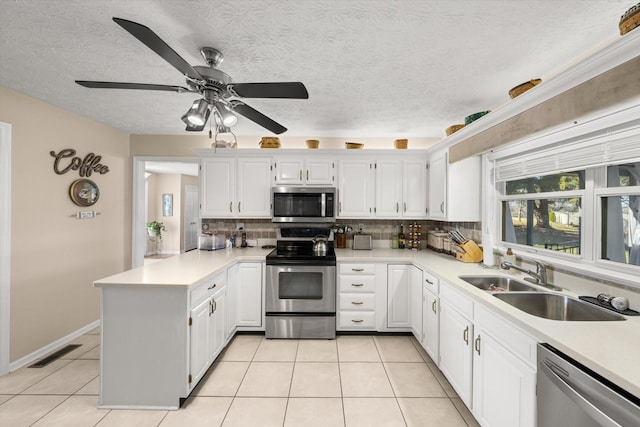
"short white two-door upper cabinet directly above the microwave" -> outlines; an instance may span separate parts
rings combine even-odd
[[[278,156],[274,166],[276,185],[335,185],[336,161],[330,158]]]

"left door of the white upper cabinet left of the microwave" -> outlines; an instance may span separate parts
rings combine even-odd
[[[235,160],[204,158],[200,163],[200,216],[230,218],[236,215]]]

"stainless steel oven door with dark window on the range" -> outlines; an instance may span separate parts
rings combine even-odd
[[[335,313],[336,267],[267,265],[267,313]]]

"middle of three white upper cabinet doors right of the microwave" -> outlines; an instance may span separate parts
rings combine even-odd
[[[375,164],[375,216],[397,218],[402,215],[402,163],[399,160],[378,160]]]

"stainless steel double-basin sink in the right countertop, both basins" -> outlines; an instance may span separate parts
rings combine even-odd
[[[541,291],[505,276],[459,276],[478,289],[493,292],[493,296],[531,315],[562,321],[626,320],[613,311],[566,295]]]

